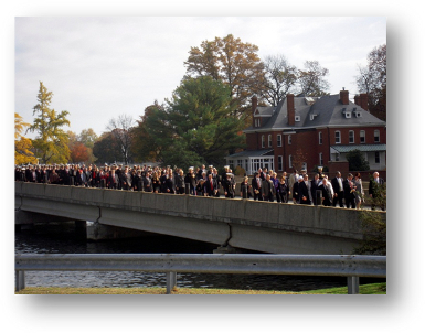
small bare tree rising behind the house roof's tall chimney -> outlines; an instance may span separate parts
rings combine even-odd
[[[321,67],[318,61],[307,61],[304,65],[306,68],[298,71],[299,95],[327,95],[329,83],[325,76],[329,74],[329,71]]]

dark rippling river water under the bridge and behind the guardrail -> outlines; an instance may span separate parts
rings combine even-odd
[[[125,240],[87,241],[74,223],[36,224],[14,233],[15,254],[212,254],[217,245],[152,235]],[[252,253],[252,251],[251,251]],[[362,279],[360,280],[363,283]],[[378,282],[374,279],[371,282]],[[166,273],[140,271],[25,271],[26,287],[161,287]],[[306,291],[347,286],[343,277],[178,273],[177,287]]]

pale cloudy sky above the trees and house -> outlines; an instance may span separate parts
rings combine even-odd
[[[191,47],[233,34],[258,46],[258,56],[284,55],[304,68],[329,69],[330,93],[358,92],[359,66],[386,44],[382,17],[14,17],[14,111],[32,123],[40,82],[50,107],[68,111],[65,131],[108,131],[119,115],[140,119],[162,104],[187,74]],[[25,137],[34,139],[35,133]]]

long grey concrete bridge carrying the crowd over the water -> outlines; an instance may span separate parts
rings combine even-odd
[[[349,255],[363,238],[357,210],[24,182],[14,182],[14,212],[15,225],[94,222],[91,239],[103,228],[115,236],[126,228],[216,244],[219,250]],[[386,218],[385,212],[373,214]]]

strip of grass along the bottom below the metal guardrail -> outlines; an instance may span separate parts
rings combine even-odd
[[[236,290],[210,288],[174,288],[172,294],[347,294],[347,287],[329,288],[311,291],[278,290]],[[15,291],[15,294],[166,294],[166,288],[62,288],[62,287],[28,287]],[[386,294],[386,282],[361,284],[360,294]]]

